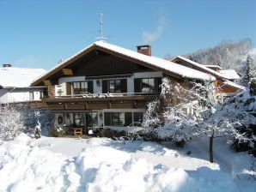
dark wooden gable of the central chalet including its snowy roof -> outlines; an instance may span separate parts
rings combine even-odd
[[[65,70],[64,70],[65,69]],[[70,70],[73,69],[74,71]],[[64,71],[72,75],[122,75],[142,71],[160,71],[175,78],[214,81],[215,77],[198,70],[190,69],[158,57],[145,56],[136,51],[98,41],[70,57],[64,63],[50,70],[46,75],[34,81],[39,86],[50,80],[56,84]]]

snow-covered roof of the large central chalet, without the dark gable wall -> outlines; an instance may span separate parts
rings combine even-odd
[[[131,58],[133,60],[136,60],[137,63],[144,63],[149,68],[158,69],[160,71],[162,70],[162,72],[167,72],[167,73],[169,72],[170,74],[179,75],[181,77],[185,77],[189,79],[200,79],[204,81],[216,80],[216,78],[213,75],[206,74],[196,69],[187,68],[185,66],[168,61],[166,59],[162,59],[159,57],[146,56],[146,55],[143,55],[142,53],[138,53],[137,51],[131,51],[123,47],[119,47],[117,45],[109,44],[105,41],[96,41],[94,42],[94,44],[89,45],[82,51],[79,51],[74,56],[65,60],[63,63],[59,63],[55,68],[48,71],[46,75],[43,75],[37,81],[34,81],[33,84],[36,85],[37,83],[39,83],[41,78],[47,78],[50,75],[52,75],[52,73],[58,72],[58,70],[68,66],[71,62],[75,61],[79,57],[82,57],[92,49],[100,49],[102,51],[111,51],[113,53],[116,53],[119,56],[124,56],[124,57],[127,57],[128,59]]]

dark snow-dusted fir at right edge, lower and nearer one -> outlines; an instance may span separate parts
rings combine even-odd
[[[253,150],[256,156],[256,96],[245,90],[228,99],[222,111],[232,147],[236,151]]]

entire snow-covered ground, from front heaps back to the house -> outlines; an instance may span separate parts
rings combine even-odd
[[[216,140],[169,143],[25,134],[0,146],[0,191],[255,191],[247,153]]]

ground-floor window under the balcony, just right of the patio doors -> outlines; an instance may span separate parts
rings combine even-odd
[[[128,126],[132,122],[131,112],[105,112],[104,122],[108,126]]]

